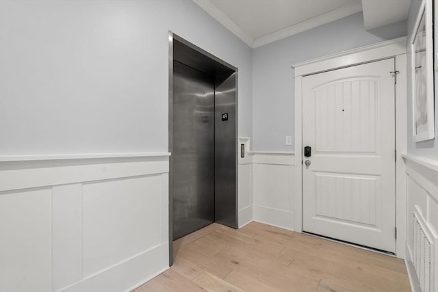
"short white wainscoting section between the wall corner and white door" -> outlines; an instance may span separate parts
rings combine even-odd
[[[254,220],[295,230],[294,154],[253,152]]]

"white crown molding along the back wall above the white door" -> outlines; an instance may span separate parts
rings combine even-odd
[[[314,27],[319,27],[320,25],[331,23],[332,21],[336,21],[337,19],[361,11],[362,11],[361,2],[344,6],[342,8],[338,8],[335,10],[331,10],[324,14],[320,14],[313,18],[309,18],[306,21],[297,23],[296,25],[291,25],[289,27],[285,27],[284,29],[280,29],[279,31],[275,31],[272,34],[268,34],[266,36],[261,36],[260,38],[256,38],[254,40],[253,47],[254,48],[261,47],[264,46],[265,44],[270,44],[271,42],[275,42],[276,40],[281,40],[289,36],[294,36],[294,34],[299,34],[302,31],[307,31],[308,29],[313,29]]]

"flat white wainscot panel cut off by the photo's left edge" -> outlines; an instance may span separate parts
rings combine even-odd
[[[51,291],[51,189],[0,193],[0,291]]]

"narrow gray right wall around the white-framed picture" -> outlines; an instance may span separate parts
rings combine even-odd
[[[438,160],[438,127],[435,124],[435,140],[428,140],[424,142],[418,142],[415,143],[413,139],[413,103],[412,103],[412,66],[411,66],[411,46],[409,44],[412,35],[414,33],[414,25],[417,18],[417,13],[420,10],[420,0],[412,0],[411,1],[411,8],[409,10],[409,16],[408,16],[408,153],[412,155],[417,155],[421,157],[426,157],[428,159],[435,159]],[[438,102],[435,97],[435,123],[438,121]]]

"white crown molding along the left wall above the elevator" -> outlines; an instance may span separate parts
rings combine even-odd
[[[227,14],[224,14],[222,10],[220,10],[216,5],[211,3],[209,0],[192,0],[196,5],[201,7],[205,12],[210,14],[211,17],[216,19],[220,24],[222,24],[224,27],[227,27],[229,31],[231,31],[233,34],[237,36],[237,38],[240,38],[243,40],[246,44],[248,44],[249,47],[254,47],[254,39],[251,38],[246,32],[237,25],[234,21],[229,18]]]

